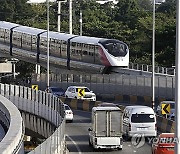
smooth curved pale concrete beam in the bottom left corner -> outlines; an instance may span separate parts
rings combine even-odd
[[[24,152],[24,133],[25,128],[23,119],[17,107],[7,98],[0,95],[0,110],[9,121],[5,123],[8,131],[0,142],[1,154],[18,154]]]

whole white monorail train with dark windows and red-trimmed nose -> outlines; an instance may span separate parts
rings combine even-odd
[[[11,56],[19,48],[34,53],[37,63],[47,58],[47,30],[0,21],[0,43],[9,45]],[[58,58],[67,69],[91,67],[103,72],[129,65],[128,45],[122,41],[53,31],[49,31],[49,56],[52,62],[52,57]]]

